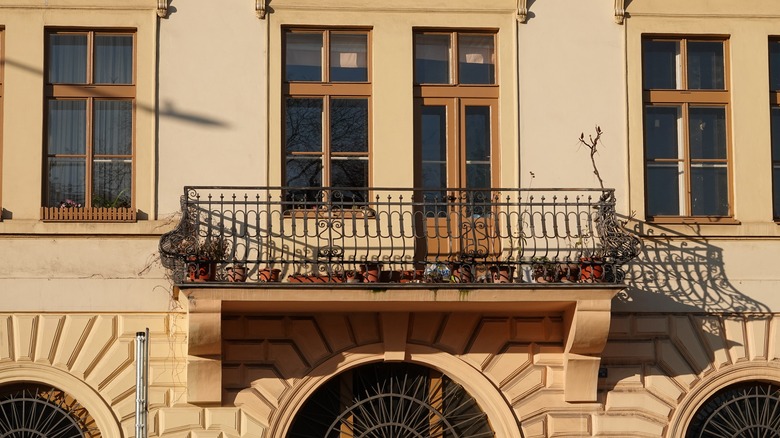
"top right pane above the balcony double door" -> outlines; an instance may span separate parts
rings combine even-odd
[[[459,82],[495,84],[496,57],[492,35],[460,35],[458,38]]]

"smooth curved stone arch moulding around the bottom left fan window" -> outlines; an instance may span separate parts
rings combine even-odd
[[[111,407],[86,382],[76,376],[57,368],[36,363],[0,364],[0,385],[33,382],[51,385],[64,391],[89,412],[95,424],[104,437],[124,436],[119,427],[119,420],[114,416]]]

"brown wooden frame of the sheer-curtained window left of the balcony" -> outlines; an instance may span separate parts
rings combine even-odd
[[[138,37],[136,29],[104,29],[104,28],[48,28],[45,38],[45,64],[44,64],[44,143],[43,143],[43,186],[41,220],[52,222],[135,222],[135,192],[136,192],[136,78],[138,69]],[[49,82],[49,68],[51,67],[50,41],[52,35],[86,35],[87,37],[87,65],[86,81],[83,84],[68,84]],[[98,35],[124,35],[131,36],[133,40],[132,72],[129,84],[101,84],[94,82],[94,41]],[[129,100],[131,102],[131,153],[95,155],[93,142],[93,120],[95,117],[94,104],[96,100]],[[86,102],[86,147],[84,154],[49,154],[46,130],[48,129],[49,102],[57,100],[79,100]],[[59,206],[46,206],[48,200],[48,161],[50,158],[83,158],[85,160],[85,200],[82,207],[61,208]],[[125,159],[131,162],[130,206],[129,207],[93,207],[92,186],[93,167],[96,158]]]

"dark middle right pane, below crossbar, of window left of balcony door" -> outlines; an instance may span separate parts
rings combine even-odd
[[[332,152],[368,152],[368,99],[331,99]]]

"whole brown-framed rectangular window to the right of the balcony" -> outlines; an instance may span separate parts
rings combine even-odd
[[[729,217],[729,92],[723,39],[642,41],[649,218]]]

